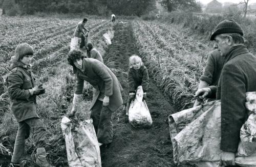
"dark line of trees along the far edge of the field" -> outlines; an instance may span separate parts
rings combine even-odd
[[[0,8],[8,15],[54,12],[141,16],[157,11],[156,1],[169,12],[177,9],[201,11],[196,0],[0,0]]]

